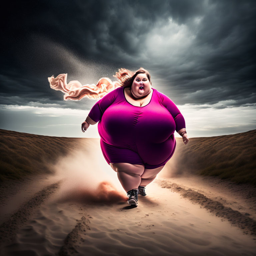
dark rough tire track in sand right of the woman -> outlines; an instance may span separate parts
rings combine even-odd
[[[248,215],[250,215],[249,213],[242,214],[239,211],[224,206],[218,201],[207,198],[193,189],[181,188],[176,183],[172,183],[170,181],[155,179],[155,183],[161,188],[168,188],[172,192],[179,193],[183,198],[188,198],[193,203],[200,204],[203,208],[206,208],[217,217],[227,219],[232,225],[243,229],[244,234],[248,234],[248,232],[250,232],[251,235],[256,236],[256,221],[248,217]]]

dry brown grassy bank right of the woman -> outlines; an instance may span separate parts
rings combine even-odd
[[[195,174],[256,185],[256,130],[190,138],[186,146],[181,138],[176,141],[177,173],[186,169]]]

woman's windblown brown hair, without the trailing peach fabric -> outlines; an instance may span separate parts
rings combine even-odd
[[[138,70],[132,72],[128,69],[121,68],[118,69],[118,72],[116,72],[114,77],[116,77],[119,80],[119,84],[121,87],[131,87],[133,80],[138,74],[146,74],[150,84],[151,84],[151,76],[149,72],[144,68],[139,68]],[[152,84],[151,84],[152,85]]]

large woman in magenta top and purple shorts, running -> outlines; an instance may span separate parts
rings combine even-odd
[[[121,69],[115,77],[119,80],[112,86],[115,89],[94,104],[82,131],[99,122],[104,158],[117,172],[128,203],[137,205],[138,194],[146,196],[145,186],[172,157],[174,131],[185,145],[189,138],[182,114],[170,98],[151,87],[147,70]]]

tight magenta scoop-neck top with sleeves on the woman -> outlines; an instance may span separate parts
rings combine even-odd
[[[124,87],[118,87],[97,101],[88,116],[99,122],[99,135],[105,143],[133,150],[145,163],[158,165],[174,153],[174,131],[186,126],[174,102],[152,89],[150,102],[139,107],[126,100]]]

